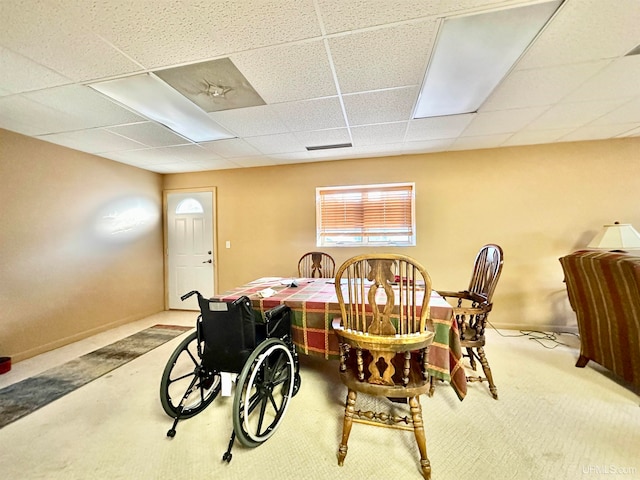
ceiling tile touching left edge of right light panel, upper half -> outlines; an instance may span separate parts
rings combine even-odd
[[[419,86],[436,21],[356,32],[329,39],[343,94]]]

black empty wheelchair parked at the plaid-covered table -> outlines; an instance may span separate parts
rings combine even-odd
[[[223,388],[223,372],[238,374],[233,397],[233,431],[222,457],[231,461],[236,437],[257,447],[273,435],[289,400],[301,384],[298,355],[291,339],[291,310],[278,305],[256,321],[251,301],[204,298],[193,290],[181,299],[198,296],[196,331],[174,350],[162,373],[160,401],[174,419],[167,436],[173,438],[182,419],[202,412]]]

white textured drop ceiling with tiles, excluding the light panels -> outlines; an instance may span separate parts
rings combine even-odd
[[[2,0],[0,128],[160,173],[639,136],[640,0],[565,0],[477,113],[412,119],[444,17],[530,3]],[[233,139],[87,86],[219,58],[266,102],[209,113]]]

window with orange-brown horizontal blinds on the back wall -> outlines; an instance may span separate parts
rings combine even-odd
[[[414,191],[413,183],[317,188],[317,245],[415,245]]]

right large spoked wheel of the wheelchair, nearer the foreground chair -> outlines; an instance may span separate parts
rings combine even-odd
[[[294,361],[287,345],[269,338],[253,351],[238,377],[233,429],[245,447],[266,441],[282,421],[292,397]]]

